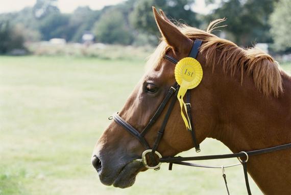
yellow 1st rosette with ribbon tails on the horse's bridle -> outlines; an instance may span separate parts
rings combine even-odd
[[[185,96],[187,90],[196,88],[196,86],[201,82],[202,77],[203,70],[201,64],[195,58],[185,57],[177,63],[175,68],[175,78],[180,85],[177,98],[181,106],[182,119],[186,125],[186,128],[189,130],[192,130],[192,127],[183,97]],[[183,107],[187,117],[183,113]]]

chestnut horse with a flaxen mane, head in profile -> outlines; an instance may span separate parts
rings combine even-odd
[[[238,153],[291,142],[291,77],[280,69],[278,62],[261,50],[243,49],[212,34],[224,19],[212,21],[203,31],[174,25],[162,10],[158,12],[154,7],[153,13],[161,42],[147,62],[149,70],[118,113],[121,122],[126,121],[129,128],[141,133],[176,81],[176,64],[165,56],[178,60],[188,57],[193,42],[201,40],[196,59],[202,66],[203,78],[196,88],[188,90],[195,146],[213,138]],[[170,114],[166,112],[169,107]],[[100,181],[119,188],[132,186],[137,174],[148,170],[137,160],[144,152],[141,143],[146,140],[154,147],[162,125],[164,134],[158,136],[156,154],[173,157],[192,148],[193,140],[185,129],[180,109],[179,103],[165,103],[160,116],[150,122],[143,140],[132,136],[134,132],[124,131],[116,120],[110,123],[91,158]],[[153,156],[155,161],[159,158]],[[264,194],[291,194],[291,150],[250,157],[248,174]]]

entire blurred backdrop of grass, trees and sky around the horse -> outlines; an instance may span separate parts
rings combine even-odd
[[[226,193],[221,170],[164,165],[118,189],[102,185],[90,164],[107,117],[159,42],[152,6],[203,30],[226,17],[216,35],[259,47],[291,72],[289,0],[0,0],[1,195]],[[199,155],[230,152],[211,139],[201,148]],[[246,194],[243,169],[226,174],[230,192]],[[253,181],[251,188],[261,194]]]

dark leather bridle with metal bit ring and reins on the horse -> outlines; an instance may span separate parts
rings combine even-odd
[[[197,54],[199,52],[199,47],[201,46],[202,41],[199,39],[196,39],[192,45],[189,57],[192,58],[196,58]],[[174,57],[172,57],[171,55],[165,55],[164,56],[165,59],[177,64],[178,60],[175,59]],[[196,157],[166,157],[166,158],[162,158],[162,155],[157,151],[158,145],[161,141],[161,138],[163,136],[164,133],[164,129],[165,126],[167,124],[167,121],[169,119],[169,116],[172,113],[172,110],[174,108],[174,105],[176,103],[177,98],[177,94],[179,91],[180,85],[175,82],[175,84],[173,86],[171,86],[171,88],[168,90],[167,94],[165,95],[163,101],[161,102],[161,104],[159,105],[157,111],[155,112],[155,114],[153,115],[153,117],[150,119],[150,121],[148,122],[148,124],[146,125],[146,127],[143,128],[143,130],[141,131],[141,133],[134,128],[132,125],[130,125],[128,122],[126,122],[122,117],[120,117],[118,115],[118,113],[114,113],[111,117],[109,117],[109,119],[113,119],[117,124],[119,124],[120,126],[124,127],[124,129],[126,129],[126,131],[128,131],[132,136],[134,136],[143,146],[144,148],[146,148],[146,150],[143,151],[142,155],[141,155],[141,159],[136,159],[136,161],[139,161],[141,163],[143,163],[143,165],[149,169],[155,169],[155,170],[159,170],[160,169],[160,165],[161,163],[169,163],[169,170],[172,170],[172,166],[173,163],[174,164],[180,164],[180,165],[187,165],[187,166],[195,166],[195,167],[206,167],[206,168],[222,168],[223,170],[223,178],[226,184],[226,188],[227,188],[227,192],[229,194],[228,191],[228,187],[227,187],[227,182],[226,182],[226,175],[224,172],[224,168],[227,167],[231,167],[231,166],[236,166],[236,165],[243,165],[244,168],[244,174],[245,174],[245,181],[246,181],[246,187],[248,190],[248,194],[251,194],[251,189],[249,186],[249,180],[248,180],[248,174],[247,174],[247,162],[249,160],[250,156],[254,156],[254,155],[260,155],[260,154],[265,154],[265,153],[271,153],[273,151],[278,151],[278,150],[282,150],[282,149],[287,149],[287,148],[291,148],[291,143],[289,144],[284,144],[284,145],[279,145],[279,146],[275,146],[275,147],[270,147],[270,148],[264,148],[264,149],[258,149],[258,150],[252,150],[252,151],[241,151],[240,153],[234,153],[234,154],[226,154],[226,155],[210,155],[210,156],[196,156]],[[174,98],[171,97],[174,95]],[[187,90],[186,92],[186,107],[187,107],[187,114],[189,116],[189,122],[192,123],[191,120],[191,104],[190,104],[190,90]],[[170,101],[171,100],[171,101]],[[149,143],[147,142],[146,139],[144,139],[144,135],[147,134],[147,132],[149,131],[149,129],[153,126],[153,124],[156,122],[156,120],[160,117],[162,111],[165,109],[165,106],[168,104],[169,102],[169,106],[168,109],[166,111],[166,114],[164,116],[163,122],[159,128],[159,131],[157,133],[155,142],[153,147],[151,148]],[[193,141],[193,145],[196,149],[196,152],[200,151],[200,147],[199,144],[197,142],[196,139],[196,134],[195,134],[195,128],[194,125],[190,125],[192,127],[192,129],[188,129],[188,131],[190,132],[190,135],[192,137],[192,141]],[[241,160],[241,157],[246,157],[246,160]],[[195,161],[195,160],[212,160],[212,159],[226,159],[226,158],[238,158],[238,160],[240,161],[240,163],[235,164],[235,165],[229,165],[229,166],[206,166],[206,165],[199,165],[199,164],[194,164],[194,163],[188,163],[188,162],[184,162],[184,161]],[[148,159],[151,162],[151,165],[148,163]]]

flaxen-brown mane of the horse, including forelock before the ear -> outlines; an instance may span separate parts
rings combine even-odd
[[[212,72],[215,65],[219,63],[222,64],[223,71],[225,73],[230,72],[231,76],[234,76],[240,70],[241,84],[243,84],[244,75],[247,74],[253,78],[256,88],[264,95],[273,94],[278,97],[283,92],[282,70],[278,62],[262,50],[255,48],[243,49],[232,41],[211,34],[213,30],[219,28],[216,25],[224,20],[217,19],[212,21],[206,31],[184,24],[177,24],[177,26],[188,38],[198,38],[203,41],[200,52],[206,58],[205,66],[212,66]],[[155,52],[150,56],[148,64],[154,64],[154,68],[159,68],[161,60],[169,49],[171,47],[162,40]],[[216,56],[219,57],[219,61],[216,61]]]

